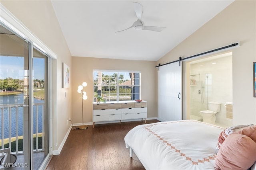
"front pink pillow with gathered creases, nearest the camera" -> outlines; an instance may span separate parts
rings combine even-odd
[[[215,168],[247,170],[256,161],[256,143],[246,135],[230,134],[222,143],[215,159]]]

